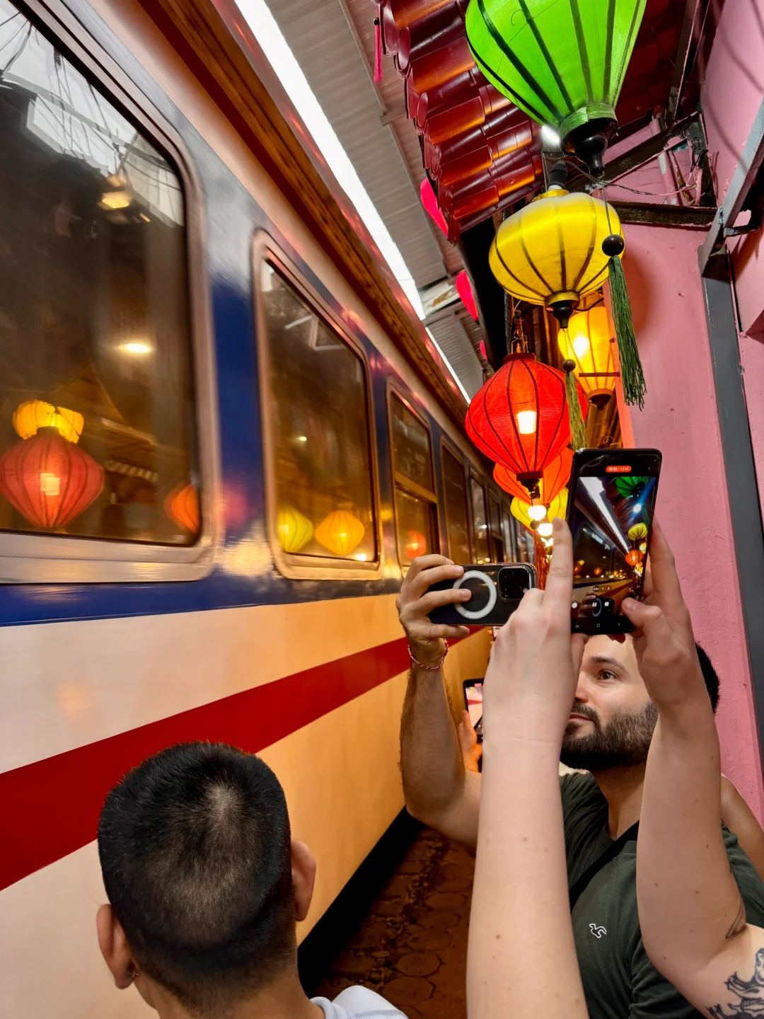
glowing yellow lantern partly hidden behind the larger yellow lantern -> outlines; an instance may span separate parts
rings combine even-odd
[[[615,390],[614,342],[604,305],[571,315],[567,329],[557,333],[560,354],[565,360],[576,362],[574,375],[599,410]]]

